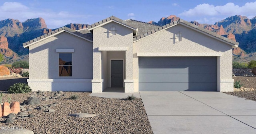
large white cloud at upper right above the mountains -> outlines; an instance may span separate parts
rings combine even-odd
[[[256,2],[247,2],[244,6],[238,6],[230,2],[223,6],[214,6],[210,4],[199,4],[196,7],[185,10],[180,16],[234,16],[245,15],[252,16],[256,14]]]

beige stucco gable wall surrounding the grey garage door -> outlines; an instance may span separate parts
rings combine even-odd
[[[174,43],[174,34],[182,33],[182,40]],[[137,53],[148,56],[217,56],[220,55],[219,68],[217,68],[218,90],[232,91],[232,46],[206,36],[198,31],[192,30],[180,24],[162,30],[148,37],[134,42],[134,79],[138,79],[138,57]],[[177,55],[175,55],[177,54]],[[216,57],[217,58],[217,57]],[[222,85],[221,85],[222,84]],[[226,85],[226,86],[224,86]]]

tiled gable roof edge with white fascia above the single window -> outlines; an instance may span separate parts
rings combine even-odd
[[[64,27],[55,29],[55,30],[52,31],[52,32],[48,32],[47,34],[44,34],[44,35],[39,36],[39,37],[37,37],[37,38],[34,38],[33,40],[24,42],[22,45],[23,45],[24,48],[27,48],[27,47],[31,46],[32,44],[35,44],[35,42],[38,42],[38,41],[40,41],[40,40],[45,39],[46,37],[49,37],[49,36],[54,35],[54,34],[59,34],[59,33],[64,32],[64,31],[65,31],[65,32],[68,32],[68,33],[70,33],[70,34],[76,35],[76,36],[78,36],[78,37],[80,37],[80,38],[83,38],[83,39],[85,39],[85,40],[88,40],[88,41],[90,41],[90,42],[92,42],[92,36],[90,36],[89,34],[83,34],[83,33],[81,33],[81,32],[72,30],[72,29],[67,28],[67,27],[64,26]]]

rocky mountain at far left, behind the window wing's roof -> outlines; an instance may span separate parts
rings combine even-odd
[[[28,19],[25,22],[6,19],[0,21],[0,53],[4,63],[15,60],[28,60],[28,49],[22,43],[51,32],[43,18]]]

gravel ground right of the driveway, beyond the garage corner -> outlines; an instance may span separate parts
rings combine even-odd
[[[241,83],[244,84],[243,87],[254,88],[254,91],[225,92],[226,94],[231,94],[241,98],[246,98],[247,100],[256,101],[256,77],[236,76],[233,79],[235,82],[240,80]]]

